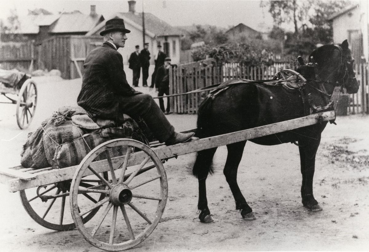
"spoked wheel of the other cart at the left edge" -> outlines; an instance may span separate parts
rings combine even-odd
[[[26,80],[18,94],[17,101],[17,123],[20,129],[30,125],[37,105],[37,87],[32,79]]]

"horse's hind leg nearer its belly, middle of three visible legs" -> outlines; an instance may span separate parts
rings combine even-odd
[[[236,209],[239,209],[242,218],[245,220],[255,220],[251,207],[247,204],[241,190],[237,184],[237,169],[239,162],[241,162],[242,153],[244,152],[246,141],[228,144],[227,161],[224,166],[224,176],[230,186],[234,200],[236,202]]]

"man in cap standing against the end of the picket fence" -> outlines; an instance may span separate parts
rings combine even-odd
[[[165,63],[159,67],[158,72],[156,73],[155,78],[155,87],[159,88],[158,97],[163,96],[164,94],[169,95],[169,68],[170,68],[170,58],[165,58]],[[159,105],[161,111],[165,111],[165,115],[170,114],[170,103],[169,97],[166,98],[166,110],[164,109],[164,101],[163,98],[159,98]]]

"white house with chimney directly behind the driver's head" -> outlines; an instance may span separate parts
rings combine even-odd
[[[135,12],[135,3],[136,1],[128,1],[129,11],[127,13],[115,13],[85,35],[100,36],[99,33],[104,29],[107,20],[123,18],[125,28],[131,31],[127,34],[128,39],[125,42],[124,49],[119,49],[119,52],[123,55],[123,64],[128,64],[128,59],[131,53],[134,52],[136,45],[140,46],[140,50],[144,48],[142,13]],[[179,64],[182,32],[151,13],[144,13],[144,21],[145,43],[149,43],[149,52],[151,53],[150,64],[154,64],[155,55],[158,53],[158,45],[161,45],[163,52],[172,59],[172,64]]]

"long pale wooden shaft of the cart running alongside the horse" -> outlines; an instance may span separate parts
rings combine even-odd
[[[197,141],[191,141],[188,143],[175,144],[173,146],[159,146],[153,148],[158,157],[163,160],[166,158],[177,157],[179,155],[184,155],[188,153],[197,152],[200,150],[205,150],[208,148],[214,148],[219,146],[224,146],[231,143],[237,143],[239,141],[250,140],[261,136],[267,136],[270,134],[275,134],[279,132],[284,132],[287,130],[296,129],[299,127],[305,127],[313,125],[315,123],[329,121],[335,119],[334,111],[328,111],[323,113],[318,113],[315,115],[309,115],[302,118],[296,118],[292,120],[287,120],[284,122],[273,123],[270,125],[265,125],[261,127],[255,127],[252,129],[241,130],[238,132],[232,132],[228,134],[223,134],[214,137],[207,137]],[[142,153],[142,151],[131,154],[129,166],[140,164],[147,155]],[[124,160],[124,156],[112,158],[113,164],[120,164]],[[91,166],[97,172],[109,171],[110,167],[106,160],[101,160],[93,162]],[[7,181],[8,190],[10,192],[16,192],[18,190],[23,190],[27,188],[32,188],[36,186],[47,185],[50,183],[56,183],[60,181],[65,181],[67,179],[72,179],[73,175],[78,166],[67,167],[62,169],[53,169],[51,171],[42,171],[37,174],[31,174],[32,176],[37,176],[33,180],[23,180],[23,179],[11,179]],[[7,176],[7,175],[6,175]]]

